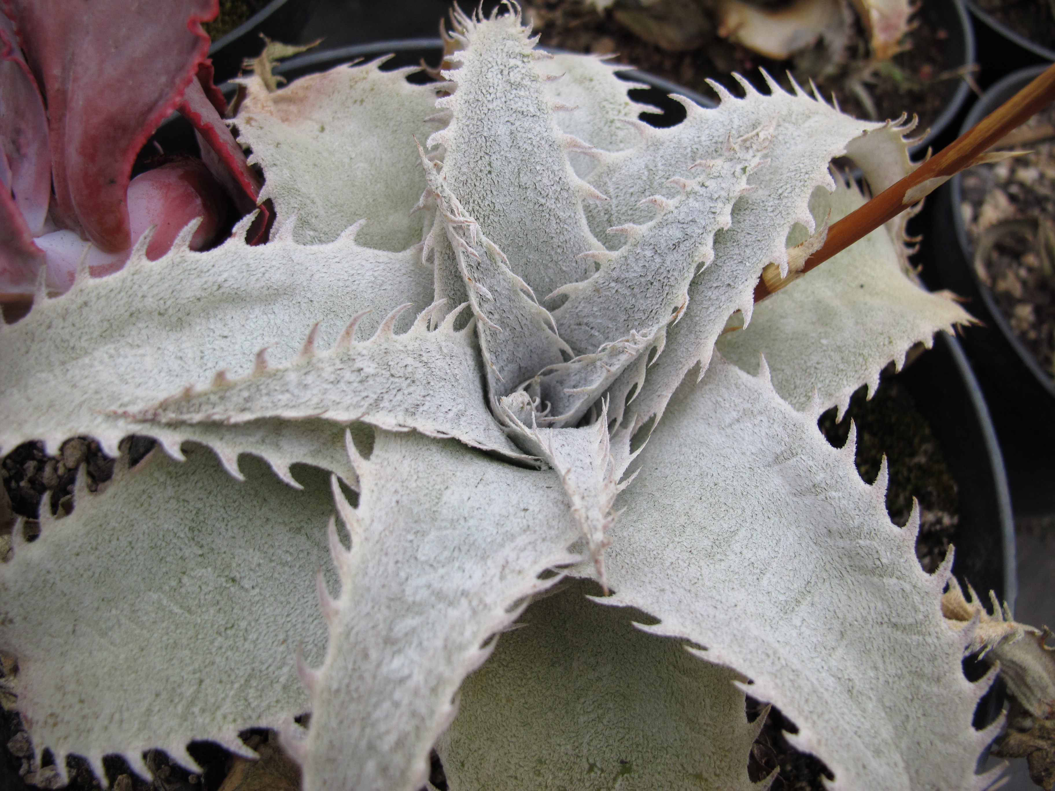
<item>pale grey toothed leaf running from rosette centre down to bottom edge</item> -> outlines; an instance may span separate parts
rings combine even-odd
[[[559,481],[449,440],[378,431],[369,460],[352,451],[357,510],[338,499],[351,537],[331,529],[341,595],[326,599],[326,658],[304,671],[311,725],[287,744],[305,791],[415,791],[455,713],[462,679],[518,602],[576,558]]]

